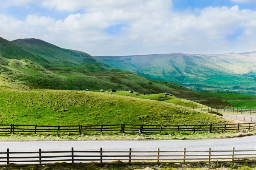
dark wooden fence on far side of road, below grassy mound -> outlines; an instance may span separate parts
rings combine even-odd
[[[74,126],[46,126],[46,125],[1,125],[0,133],[90,133],[90,132],[139,132],[141,133],[169,133],[169,132],[224,132],[230,130],[254,130],[256,123],[238,123],[221,125],[74,125]]]

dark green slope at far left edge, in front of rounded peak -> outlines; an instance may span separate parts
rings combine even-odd
[[[49,61],[33,54],[24,48],[0,37],[0,55],[7,59],[23,59],[28,58],[34,62],[38,62],[43,66],[49,66]]]

